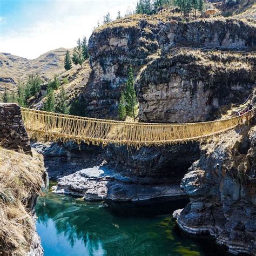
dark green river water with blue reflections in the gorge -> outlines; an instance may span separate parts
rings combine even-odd
[[[48,192],[37,201],[37,232],[45,256],[221,255],[178,231],[171,213],[186,203],[107,204]]]

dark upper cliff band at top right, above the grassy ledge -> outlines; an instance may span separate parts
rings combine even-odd
[[[248,49],[255,46],[256,27],[239,19],[204,19],[166,23],[159,34],[165,49],[177,46]]]

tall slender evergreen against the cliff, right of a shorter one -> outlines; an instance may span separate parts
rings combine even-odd
[[[131,67],[128,73],[124,96],[126,100],[126,106],[125,106],[126,114],[127,116],[132,117],[135,120],[137,97],[136,97],[136,92],[134,90],[134,76],[133,76],[133,70]]]

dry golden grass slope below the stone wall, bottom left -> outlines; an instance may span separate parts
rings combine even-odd
[[[42,156],[33,157],[0,147],[0,254],[25,255],[33,231],[29,199],[43,184]]]

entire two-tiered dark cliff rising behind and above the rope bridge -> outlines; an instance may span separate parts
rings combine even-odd
[[[94,117],[117,118],[131,65],[140,120],[211,119],[219,107],[246,98],[255,80],[255,56],[173,48],[250,50],[256,44],[255,31],[255,25],[239,19],[183,23],[170,15],[131,16],[102,26],[89,39],[92,73],[83,92],[87,110]]]

